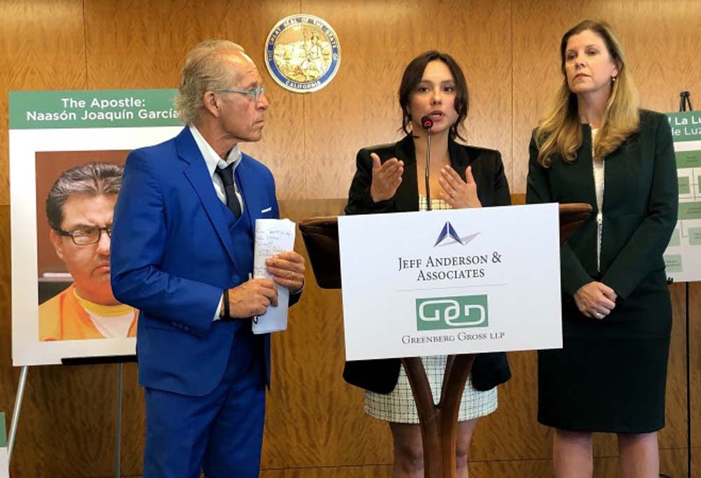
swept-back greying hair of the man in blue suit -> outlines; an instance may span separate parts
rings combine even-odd
[[[221,61],[225,52],[245,53],[243,47],[233,41],[212,38],[190,50],[182,67],[175,109],[186,125],[192,125],[200,115],[200,107],[206,91],[231,87],[231,73]]]

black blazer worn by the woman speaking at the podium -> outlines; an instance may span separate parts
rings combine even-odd
[[[496,150],[463,146],[453,140],[448,142],[450,164],[463,181],[465,168],[472,166],[472,176],[477,183],[477,197],[482,206],[508,206],[511,204],[509,184],[504,176],[501,154]],[[392,157],[404,161],[404,174],[392,199],[374,202],[370,197],[372,183],[372,158],[376,153],[381,162]],[[356,158],[357,170],[348,191],[346,214],[418,211],[418,182],[416,178],[416,149],[411,135],[398,143],[362,148]],[[343,379],[349,384],[376,393],[390,393],[397,385],[401,362],[398,358],[382,360],[355,360],[346,362]],[[472,365],[472,385],[477,390],[489,390],[511,378],[506,354],[503,352],[480,353]]]

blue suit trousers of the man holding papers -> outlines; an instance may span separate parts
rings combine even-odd
[[[204,397],[145,388],[144,478],[257,478],[265,417],[263,343],[242,322],[222,381]],[[204,372],[206,373],[206,372]]]

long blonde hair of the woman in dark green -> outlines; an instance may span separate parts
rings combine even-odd
[[[565,51],[569,38],[586,30],[594,32],[604,40],[608,54],[618,67],[618,76],[612,79],[611,96],[606,102],[604,117],[594,141],[594,158],[606,157],[628,136],[637,132],[639,127],[638,92],[626,68],[625,55],[618,38],[606,22],[592,20],[580,22],[562,37],[560,43],[562,85],[536,128],[538,162],[544,167],[550,167],[553,155],[561,155],[566,161],[574,161],[577,150],[582,146],[583,134],[578,116],[577,97],[567,84]]]

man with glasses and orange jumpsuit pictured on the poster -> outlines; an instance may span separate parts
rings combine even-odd
[[[121,166],[91,162],[64,171],[48,193],[49,239],[74,282],[39,306],[39,340],[135,337],[137,311],[114,298],[109,281],[121,183]]]

